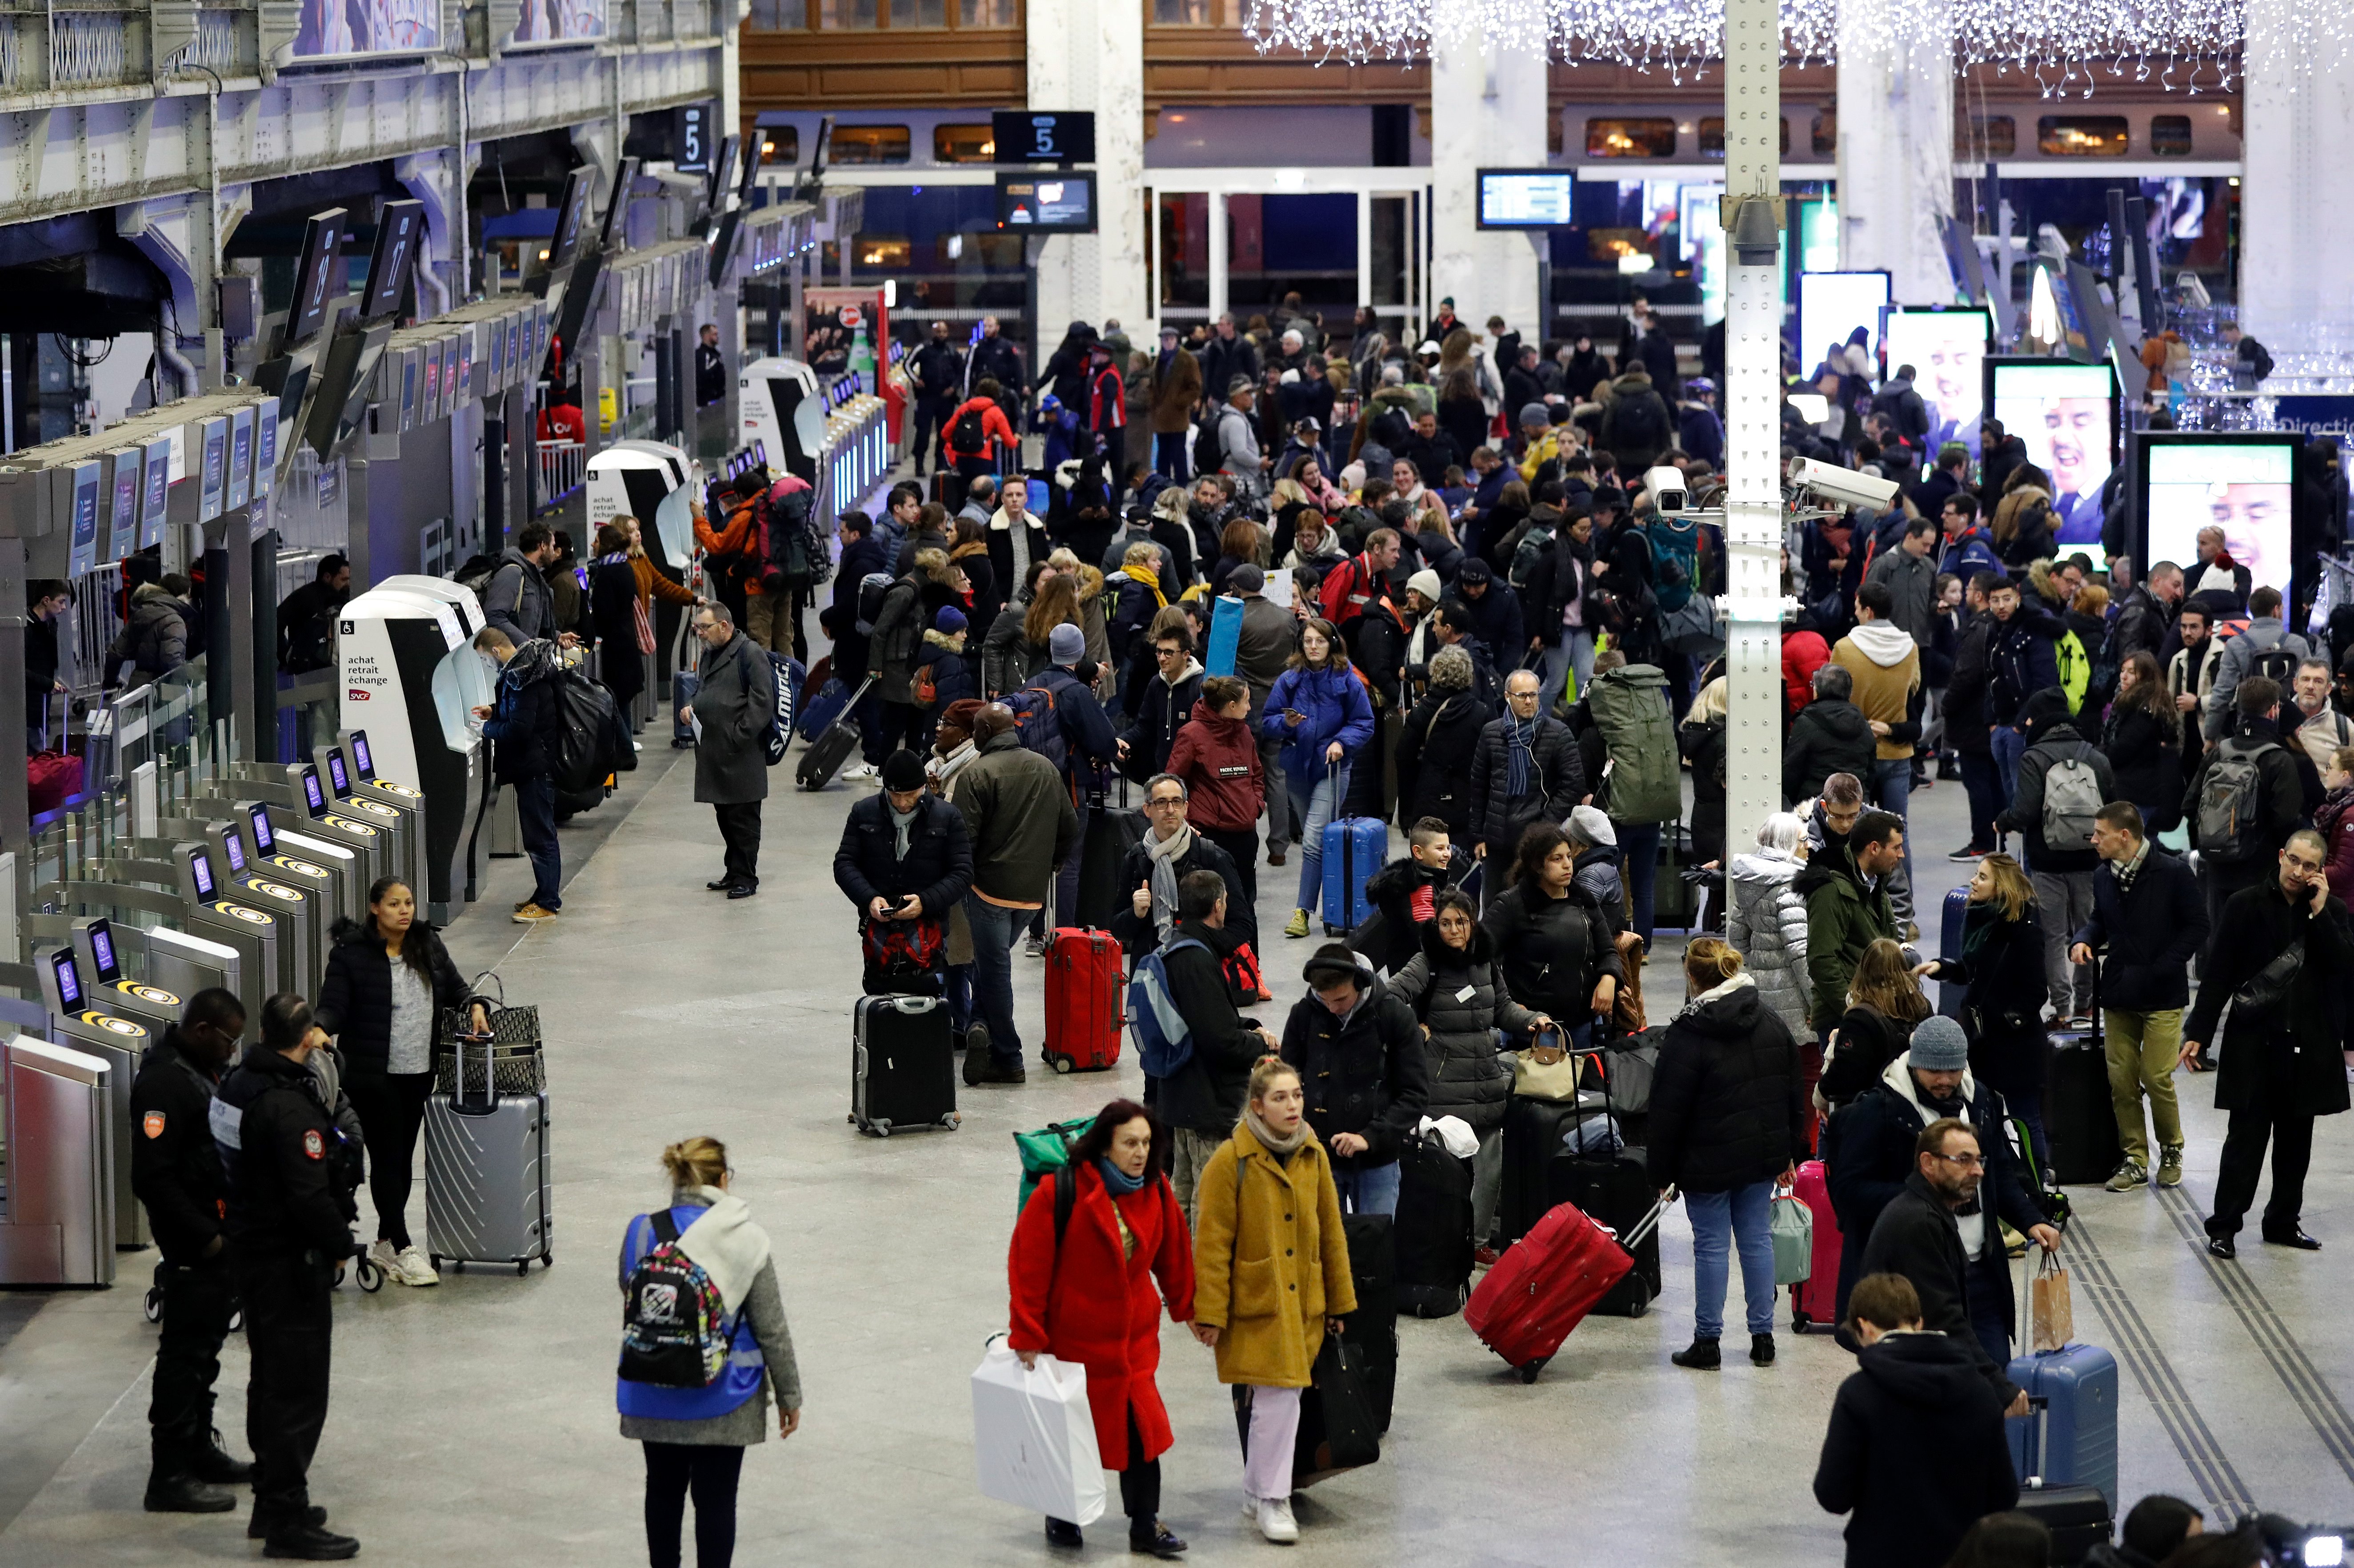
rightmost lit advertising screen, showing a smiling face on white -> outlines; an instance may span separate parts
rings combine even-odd
[[[2298,438],[2288,433],[2142,438],[2142,560],[2173,560],[2199,591],[2199,530],[2220,527],[2257,589],[2290,591],[2288,504]]]

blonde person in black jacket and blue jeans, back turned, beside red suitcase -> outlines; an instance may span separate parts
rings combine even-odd
[[[1716,937],[1683,949],[1693,1003],[1667,1026],[1650,1085],[1645,1161],[1653,1187],[1681,1187],[1693,1215],[1697,1293],[1693,1347],[1671,1361],[1721,1366],[1725,1255],[1742,1255],[1749,1358],[1773,1363],[1773,1231],[1766,1210],[1775,1182],[1808,1156],[1806,1071],[1789,1024],[1766,1005],[1742,958]]]

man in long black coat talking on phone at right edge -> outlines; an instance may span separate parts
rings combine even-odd
[[[2347,906],[2323,873],[2328,843],[2298,829],[2281,845],[2279,873],[2225,902],[2208,937],[2206,979],[2182,1026],[2182,1064],[2215,1038],[2225,1005],[2232,1038],[2215,1074],[2215,1109],[2229,1114],[2208,1253],[2236,1257],[2239,1224],[2255,1203],[2255,1177],[2272,1142],[2272,1198],[2265,1241],[2314,1253],[2305,1234],[2305,1168],[2314,1156],[2314,1116],[2347,1109],[2340,1045],[2347,1031],[2345,975],[2354,961]]]

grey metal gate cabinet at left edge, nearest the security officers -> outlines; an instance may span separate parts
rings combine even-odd
[[[9,998],[14,1012],[33,1008]],[[113,1069],[31,1034],[0,1041],[7,1165],[0,1283],[115,1283]]]

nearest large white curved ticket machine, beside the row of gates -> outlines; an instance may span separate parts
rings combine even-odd
[[[480,885],[480,819],[490,803],[487,749],[473,709],[494,702],[490,662],[473,650],[483,610],[438,577],[388,577],[337,612],[341,727],[365,730],[384,779],[421,796],[421,852],[400,873],[417,883],[428,918],[447,923]],[[377,819],[398,805],[348,798],[346,817]]]

